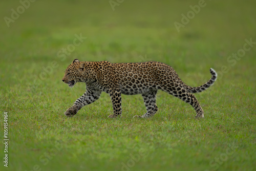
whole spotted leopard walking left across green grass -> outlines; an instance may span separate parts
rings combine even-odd
[[[176,71],[158,61],[112,63],[109,61],[79,61],[74,59],[62,78],[70,88],[77,82],[86,83],[86,92],[64,113],[72,117],[83,107],[99,99],[102,92],[110,95],[113,114],[109,118],[121,117],[121,94],[141,94],[146,113],[134,117],[149,118],[156,114],[157,91],[173,95],[193,106],[196,118],[203,118],[204,111],[194,93],[200,93],[212,86],[217,80],[217,72],[210,68],[211,78],[202,86],[190,87],[185,84]]]

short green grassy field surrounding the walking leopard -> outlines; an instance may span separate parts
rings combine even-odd
[[[24,2],[0,2],[0,170],[256,170],[255,1]],[[61,81],[75,58],[161,61],[194,87],[210,68],[219,78],[196,94],[203,119],[160,91],[150,119],[133,119],[140,95],[122,95],[123,118],[107,118],[105,93],[67,118],[86,89]]]

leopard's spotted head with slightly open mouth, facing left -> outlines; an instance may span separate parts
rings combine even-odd
[[[79,61],[74,59],[71,65],[65,71],[65,75],[62,78],[62,81],[69,84],[69,87],[73,88],[75,83],[83,82],[83,75],[81,74],[84,71],[84,65],[86,62]]]

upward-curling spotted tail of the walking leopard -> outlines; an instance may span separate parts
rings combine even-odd
[[[210,69],[211,78],[204,83],[202,86],[199,87],[190,87],[185,84],[185,88],[189,93],[200,93],[206,89],[208,89],[210,86],[214,84],[214,82],[217,80],[217,72],[214,69]]]

